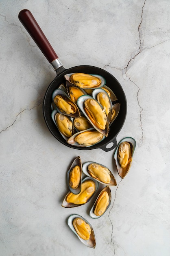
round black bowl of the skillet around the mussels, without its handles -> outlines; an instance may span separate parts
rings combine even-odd
[[[106,85],[111,88],[111,90],[116,94],[116,97],[118,98],[118,102],[121,104],[120,106],[120,112],[116,120],[113,122],[113,124],[110,126],[109,135],[107,138],[105,138],[100,143],[91,146],[91,147],[76,147],[69,145],[63,137],[61,137],[58,129],[56,128],[54,122],[51,118],[51,102],[52,102],[52,92],[59,87],[62,83],[65,83],[64,75],[69,73],[87,73],[87,74],[98,74],[103,76],[106,79]],[[83,150],[89,150],[94,148],[100,148],[103,145],[108,145],[110,142],[113,142],[113,140],[116,138],[120,130],[122,129],[122,126],[124,124],[124,121],[126,119],[126,112],[127,112],[127,104],[126,104],[126,97],[124,94],[124,91],[122,89],[122,86],[117,81],[117,79],[111,75],[109,72],[100,69],[99,67],[94,66],[77,66],[77,67],[71,67],[69,69],[64,69],[60,74],[56,76],[56,78],[50,83],[48,86],[48,89],[46,91],[44,102],[43,102],[43,113],[44,113],[44,119],[46,121],[46,125],[52,135],[59,140],[62,144],[65,146],[68,146],[70,148],[76,148],[76,149],[83,149]]]

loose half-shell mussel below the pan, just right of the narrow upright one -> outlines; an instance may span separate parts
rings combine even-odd
[[[96,162],[85,162],[82,166],[83,173],[92,179],[97,180],[98,182],[108,185],[108,186],[116,186],[116,179],[107,168],[102,164],[98,164]]]

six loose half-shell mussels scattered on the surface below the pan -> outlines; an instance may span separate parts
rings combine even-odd
[[[135,140],[127,137],[120,141],[115,150],[115,163],[122,179],[131,167],[135,146]],[[83,180],[82,173],[85,175]],[[67,180],[70,191],[63,200],[63,207],[72,208],[86,204],[94,196],[98,190],[98,184],[101,183],[105,187],[98,193],[89,211],[89,216],[97,219],[107,211],[111,204],[110,186],[117,185],[109,168],[96,162],[85,162],[82,165],[80,157],[76,157],[68,170]],[[72,214],[68,218],[68,225],[84,245],[95,248],[94,231],[92,225],[85,218],[78,214]]]

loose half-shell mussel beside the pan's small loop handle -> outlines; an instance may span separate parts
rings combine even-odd
[[[131,137],[122,139],[116,147],[114,159],[118,174],[122,179],[129,172],[135,147],[136,141]]]

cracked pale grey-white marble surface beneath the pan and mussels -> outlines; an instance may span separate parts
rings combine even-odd
[[[121,180],[114,150],[75,150],[54,139],[42,101],[56,76],[18,13],[30,9],[65,68],[94,65],[113,74],[127,97],[117,140],[137,141]],[[170,1],[2,0],[0,2],[0,255],[170,255]],[[102,218],[89,205],[61,207],[66,171],[80,156],[108,166],[118,186]],[[96,248],[67,225],[78,213]]]

